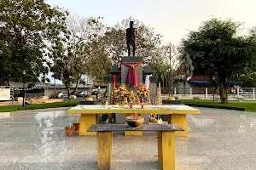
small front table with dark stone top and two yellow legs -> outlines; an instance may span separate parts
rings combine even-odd
[[[118,131],[157,131],[157,150],[160,166],[163,170],[175,170],[175,132],[183,132],[183,129],[174,124],[144,124],[139,130],[131,129],[124,124],[91,125],[87,132],[98,133],[97,162],[99,170],[111,169],[113,132]]]

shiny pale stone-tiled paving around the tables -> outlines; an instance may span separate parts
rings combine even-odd
[[[177,170],[256,168],[256,113],[201,109],[177,137]],[[0,113],[0,169],[97,169],[96,137],[66,137],[67,109]],[[155,133],[113,137],[113,169],[160,169]]]

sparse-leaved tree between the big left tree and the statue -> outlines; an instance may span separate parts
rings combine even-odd
[[[101,63],[108,63],[104,51],[100,51],[102,48],[99,44],[102,43],[98,41],[104,28],[101,19],[100,17],[84,18],[76,14],[70,15],[66,23],[67,34],[63,34],[61,42],[52,44],[54,48],[49,52],[52,60],[49,62],[49,67],[54,72],[54,77],[60,79],[66,86],[68,96],[76,92],[82,75],[88,75],[91,72],[90,69],[98,74],[102,72],[98,71],[102,68]],[[96,57],[100,62],[96,62],[96,67],[92,68],[91,60]],[[104,69],[108,67],[103,67]],[[75,88],[71,92],[73,83]]]

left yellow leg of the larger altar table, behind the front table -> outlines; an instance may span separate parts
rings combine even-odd
[[[81,114],[79,136],[96,136],[96,132],[86,132],[92,124],[98,124],[96,114]]]

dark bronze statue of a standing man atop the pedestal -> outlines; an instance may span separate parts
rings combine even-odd
[[[130,21],[130,28],[126,29],[126,44],[128,49],[128,56],[131,56],[131,46],[132,56],[135,56],[137,46],[137,29],[133,28],[133,21]]]

